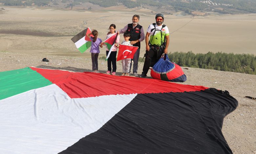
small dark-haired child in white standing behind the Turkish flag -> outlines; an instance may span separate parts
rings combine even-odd
[[[129,41],[130,36],[131,36],[130,32],[125,32],[123,34],[124,41],[121,44],[126,46],[132,46],[131,41]],[[117,48],[119,48],[119,46],[117,46]],[[122,67],[123,67],[122,76],[130,76],[129,75],[130,65],[131,65],[131,58],[122,59]]]

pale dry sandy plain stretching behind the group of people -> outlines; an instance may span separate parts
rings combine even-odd
[[[5,10],[0,14],[0,51],[75,57],[84,57],[84,54],[78,52],[71,38],[84,27],[97,29],[99,38],[104,40],[110,24],[114,23],[117,30],[121,29],[131,23],[135,13],[121,10],[103,10],[103,13],[2,7]],[[140,14],[139,24],[146,32],[148,25],[154,22],[155,13],[136,13]],[[256,14],[165,15],[164,24],[170,31],[169,52],[192,50],[194,53],[211,51],[256,54]],[[122,41],[122,36],[120,38]],[[105,48],[100,51],[100,56],[105,55]],[[140,57],[143,57],[144,51],[143,41]]]

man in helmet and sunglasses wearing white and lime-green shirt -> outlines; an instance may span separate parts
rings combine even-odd
[[[156,23],[149,25],[145,36],[146,53],[143,72],[140,76],[142,78],[147,76],[149,67],[153,67],[161,55],[168,52],[169,29],[162,24],[164,16],[162,13],[158,13],[155,19]]]

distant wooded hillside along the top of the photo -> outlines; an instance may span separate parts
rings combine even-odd
[[[183,1],[183,0],[0,0],[1,3],[4,3],[4,5],[9,6],[31,6],[32,3],[35,3],[37,6],[45,6],[48,5],[50,2],[53,2],[54,4],[58,4],[58,2],[61,3],[70,3],[73,4],[73,6],[90,2],[102,7],[110,7],[110,6],[117,6],[117,5],[124,5],[127,8],[135,8],[135,7],[141,7],[144,5],[149,6],[155,6],[158,8],[166,7],[171,8],[173,10],[183,10],[186,11],[186,13],[190,13],[191,10],[199,10],[203,11],[205,9],[214,9],[214,6],[204,4],[200,2],[201,0],[191,0],[191,1]],[[220,3],[220,4],[230,4],[232,6],[217,6],[220,8],[227,9],[225,11],[221,11],[222,13],[229,13],[230,11],[236,9],[241,10],[241,12],[256,12],[256,1],[255,0],[211,0],[213,3]],[[229,9],[229,10],[228,10]],[[218,11],[218,10],[217,10]]]

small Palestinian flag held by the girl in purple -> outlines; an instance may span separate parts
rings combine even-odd
[[[81,53],[90,48],[92,45],[92,41],[90,40],[90,38],[86,37],[86,35],[91,32],[91,29],[88,27],[71,39],[75,43],[76,48],[78,48]]]

